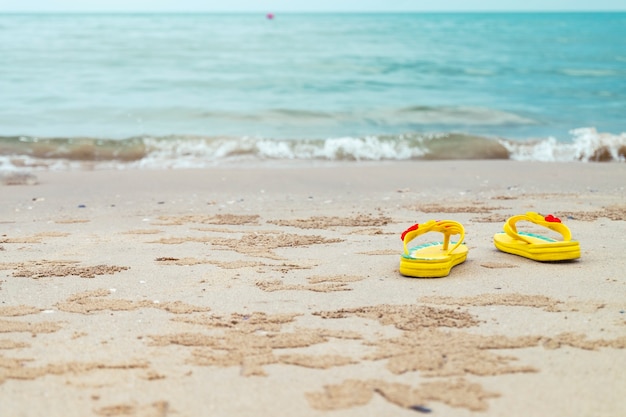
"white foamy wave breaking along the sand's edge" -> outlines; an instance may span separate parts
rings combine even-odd
[[[202,168],[238,161],[382,161],[509,159],[624,162],[626,133],[572,130],[571,141],[524,141],[462,133],[329,139],[142,136],[128,139],[0,137],[0,170],[72,168]]]

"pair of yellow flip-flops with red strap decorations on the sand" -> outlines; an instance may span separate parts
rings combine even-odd
[[[560,233],[562,240],[555,240],[547,236],[527,233],[517,230],[516,223],[527,221],[544,226]],[[510,217],[504,223],[504,232],[496,233],[493,242],[502,252],[523,256],[535,261],[565,261],[580,258],[580,245],[572,240],[572,233],[561,220],[553,215],[528,212]],[[428,232],[443,234],[443,242],[425,243],[409,248],[408,244],[418,236]],[[450,237],[460,235],[456,242]],[[467,259],[467,247],[463,244],[465,229],[452,220],[430,220],[416,224],[402,233],[404,253],[400,257],[400,273],[417,278],[440,278],[450,273],[450,270]]]

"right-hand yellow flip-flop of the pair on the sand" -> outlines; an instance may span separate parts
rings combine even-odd
[[[552,239],[547,236],[520,232],[516,223],[519,221],[531,222],[547,227],[563,236],[563,240]],[[580,244],[572,240],[572,233],[561,219],[549,214],[542,216],[539,213],[528,212],[510,217],[503,226],[504,232],[493,236],[493,243],[502,252],[523,256],[541,262],[566,261],[580,258]]]

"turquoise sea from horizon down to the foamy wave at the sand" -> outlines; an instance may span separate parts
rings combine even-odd
[[[0,170],[626,160],[626,13],[0,14]]]

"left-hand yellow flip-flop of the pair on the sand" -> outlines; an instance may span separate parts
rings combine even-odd
[[[430,242],[409,248],[407,245],[416,237],[428,232],[443,233],[443,242]],[[450,236],[460,235],[459,240],[450,242]],[[467,246],[463,244],[465,229],[452,220],[430,220],[415,224],[402,233],[404,253],[400,256],[400,273],[407,277],[441,278],[467,259]]]

